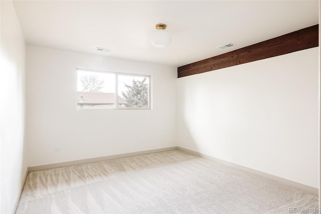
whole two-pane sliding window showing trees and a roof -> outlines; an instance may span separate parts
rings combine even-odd
[[[150,76],[77,69],[77,109],[150,109]]]

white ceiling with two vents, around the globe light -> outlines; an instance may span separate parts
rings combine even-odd
[[[26,42],[182,66],[318,24],[318,1],[14,1]],[[150,44],[155,25],[172,35]],[[236,46],[218,49],[234,43]],[[98,52],[96,47],[112,49]]]

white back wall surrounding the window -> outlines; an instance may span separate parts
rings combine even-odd
[[[176,67],[36,46],[26,59],[28,166],[177,145]],[[151,75],[152,110],[76,110],[76,67]]]

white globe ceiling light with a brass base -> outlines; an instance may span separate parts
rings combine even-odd
[[[150,42],[153,46],[157,48],[164,48],[165,46],[169,45],[172,41],[171,34],[165,31],[166,25],[165,24],[157,24],[156,25],[157,31],[154,31],[151,34]]]

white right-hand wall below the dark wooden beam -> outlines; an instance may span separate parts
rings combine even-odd
[[[178,146],[318,188],[318,48],[178,79]]]

